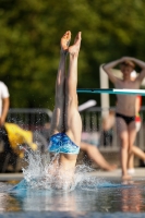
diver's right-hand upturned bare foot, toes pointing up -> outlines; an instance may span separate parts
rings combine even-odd
[[[78,55],[80,47],[81,47],[81,32],[77,33],[75,39],[74,39],[74,45],[69,47],[69,53],[70,55]]]

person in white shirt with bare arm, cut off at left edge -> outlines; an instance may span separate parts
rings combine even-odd
[[[7,85],[0,81],[0,126],[5,122],[9,110],[9,90]]]

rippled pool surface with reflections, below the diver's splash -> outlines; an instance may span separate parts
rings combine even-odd
[[[145,217],[145,180],[122,184],[98,179],[96,185],[85,181],[72,192],[9,192],[12,187],[13,184],[0,182],[0,217],[123,217],[124,213],[125,217]]]

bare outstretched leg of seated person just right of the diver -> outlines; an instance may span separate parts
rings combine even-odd
[[[98,150],[98,148],[94,145],[90,145],[88,143],[81,142],[81,149],[84,150],[88,157],[97,164],[100,168],[107,171],[112,171],[117,168],[116,165],[110,165],[107,162],[107,160],[104,158],[101,153]]]

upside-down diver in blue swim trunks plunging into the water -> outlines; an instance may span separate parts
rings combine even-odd
[[[48,150],[59,154],[59,159],[52,160],[56,182],[62,181],[62,175],[73,172],[80,152],[82,120],[77,109],[77,58],[81,47],[81,32],[77,33],[74,45],[69,47],[71,32],[68,31],[61,38],[60,63],[56,81],[56,102],[50,126],[50,142]],[[65,75],[65,59],[69,53],[69,70]],[[58,169],[59,171],[56,171]]]

